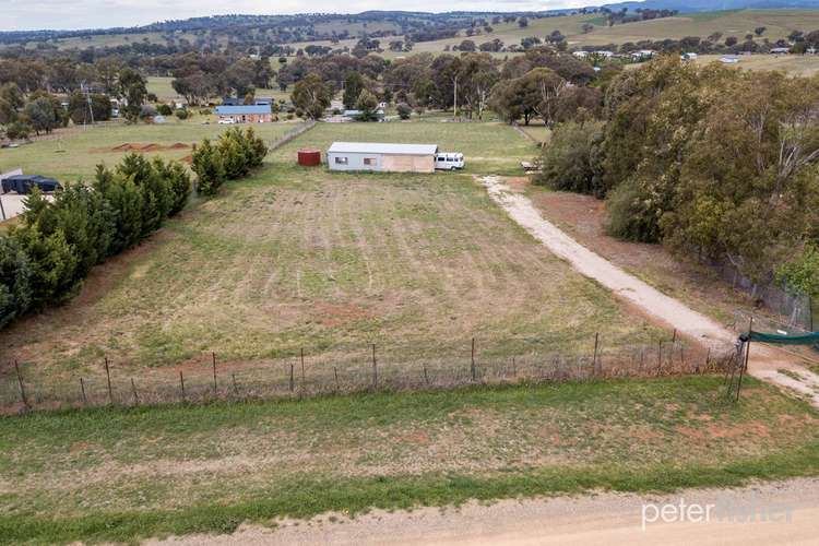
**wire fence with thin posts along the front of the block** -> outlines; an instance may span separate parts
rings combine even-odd
[[[703,348],[677,339],[605,347],[600,335],[583,354],[541,349],[499,354],[467,341],[461,354],[413,355],[408,346],[297,354],[252,363],[222,361],[216,353],[173,368],[139,368],[104,359],[61,380],[38,379],[23,361],[0,368],[0,412],[197,403],[213,400],[300,399],[363,391],[454,389],[470,384],[562,382],[723,372],[734,346]]]

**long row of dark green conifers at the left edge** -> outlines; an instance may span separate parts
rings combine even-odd
[[[94,265],[158,229],[189,192],[181,164],[139,154],[97,166],[91,183],[69,185],[54,202],[34,189],[21,224],[0,235],[0,328],[69,300]]]

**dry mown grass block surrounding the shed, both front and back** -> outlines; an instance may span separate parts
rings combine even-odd
[[[74,393],[79,376],[103,375],[104,356],[122,377],[210,361],[210,352],[245,365],[305,347],[311,358],[353,366],[369,361],[377,343],[397,365],[459,356],[460,366],[473,336],[482,357],[497,359],[591,355],[596,332],[606,347],[658,339],[518,227],[472,177],[293,166],[300,145],[376,140],[387,126],[305,133],[259,175],[230,182],[93,271],[66,307],[0,332],[0,361],[16,358],[34,384],[52,380]],[[489,131],[508,130],[510,140],[492,150],[475,139],[478,124],[389,124],[402,140],[423,139],[425,126],[424,140],[484,153],[487,169],[505,168],[502,150],[532,145],[502,126]],[[11,392],[16,383],[5,371]]]

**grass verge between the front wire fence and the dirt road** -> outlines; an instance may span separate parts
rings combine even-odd
[[[819,415],[721,377],[103,408],[0,418],[0,542],[819,473]]]

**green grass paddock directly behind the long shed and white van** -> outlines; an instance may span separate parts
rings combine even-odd
[[[333,141],[399,142],[438,144],[441,152],[462,152],[466,173],[519,174],[520,162],[537,155],[537,146],[501,122],[453,122],[449,117],[428,115],[419,121],[389,123],[322,123],[274,157],[290,163],[299,147],[327,151]],[[323,153],[322,153],[323,157]]]

